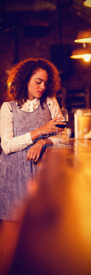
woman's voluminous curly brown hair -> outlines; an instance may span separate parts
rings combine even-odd
[[[56,96],[56,92],[60,90],[60,75],[52,62],[43,59],[24,60],[12,68],[7,79],[8,94],[12,100],[18,102],[19,106],[22,106],[28,98],[27,83],[39,68],[48,73],[48,86],[41,96],[41,106],[43,107],[47,97]]]

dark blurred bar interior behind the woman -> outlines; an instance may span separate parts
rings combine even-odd
[[[7,97],[10,68],[31,57],[52,61],[62,88],[60,107],[69,112],[74,137],[74,113],[91,108],[91,60],[71,59],[79,31],[91,29],[91,8],[83,0],[1,0],[0,3],[0,106]],[[86,46],[91,52],[91,43]]]

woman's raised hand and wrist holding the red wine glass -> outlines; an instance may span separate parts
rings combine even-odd
[[[43,125],[42,127],[39,127],[39,131],[41,133],[41,135],[45,134],[45,133],[61,133],[62,131],[64,131],[64,129],[56,127],[56,125],[65,125],[65,122],[61,122],[61,117],[56,117],[53,118],[52,120],[50,120],[48,123],[46,123],[45,125]]]

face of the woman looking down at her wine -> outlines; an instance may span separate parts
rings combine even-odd
[[[28,88],[28,99],[33,101],[33,99],[40,99],[42,94],[45,92],[48,85],[48,73],[46,70],[39,68],[34,75],[31,76]]]

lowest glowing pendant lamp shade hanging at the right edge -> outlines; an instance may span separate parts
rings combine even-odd
[[[85,62],[90,62],[91,60],[91,50],[89,49],[75,49],[70,56],[73,59],[83,59]]]

